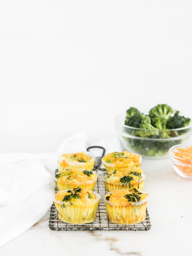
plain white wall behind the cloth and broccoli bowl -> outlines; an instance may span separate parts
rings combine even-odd
[[[0,0],[0,152],[114,137],[130,106],[191,116],[191,1]]]

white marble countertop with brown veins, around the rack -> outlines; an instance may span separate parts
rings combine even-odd
[[[143,159],[141,167],[146,174],[143,190],[149,194],[151,229],[55,231],[49,228],[48,211],[1,246],[0,255],[191,255],[191,180],[178,176],[168,158]]]

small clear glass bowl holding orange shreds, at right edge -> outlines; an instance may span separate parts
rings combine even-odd
[[[177,153],[186,147],[192,147],[187,144],[179,144],[169,149],[169,158],[171,164],[179,176],[185,179],[192,179],[192,153],[187,153],[183,157],[178,157]],[[181,149],[181,150],[180,150]],[[180,155],[180,154],[179,154]]]

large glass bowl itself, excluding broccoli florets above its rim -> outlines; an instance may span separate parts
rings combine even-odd
[[[143,130],[125,125],[126,113],[121,113],[115,117],[115,130],[123,150],[142,155],[143,158],[161,159],[168,157],[169,149],[177,144],[187,142],[191,135],[191,123],[178,129],[170,130],[147,130],[150,136],[140,137],[138,134]],[[168,132],[170,138],[163,138]]]

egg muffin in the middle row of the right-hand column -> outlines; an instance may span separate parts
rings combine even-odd
[[[117,189],[130,190],[132,188],[142,191],[145,182],[145,174],[141,168],[132,166],[129,168],[121,168],[119,171],[107,172],[103,181],[108,192]]]

